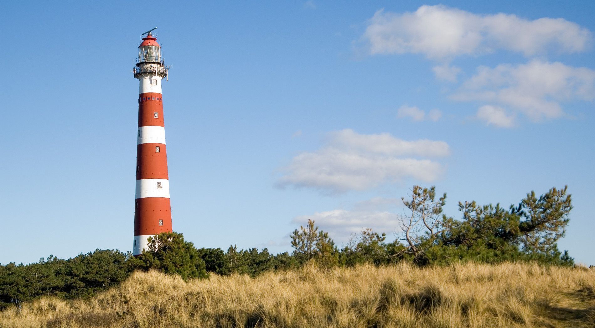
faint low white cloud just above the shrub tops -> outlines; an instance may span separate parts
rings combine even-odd
[[[297,216],[293,223],[305,225],[308,219],[315,221],[315,225],[328,233],[337,244],[345,243],[350,235],[360,234],[366,228],[372,228],[378,233],[386,233],[390,237],[399,226],[399,216],[388,211],[347,211],[333,209],[331,211],[315,212],[312,215]]]

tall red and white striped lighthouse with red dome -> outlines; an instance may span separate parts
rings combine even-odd
[[[161,46],[151,34],[155,28],[142,34],[144,37],[134,66],[134,78],[139,79],[134,256],[140,255],[147,248],[147,238],[172,231],[161,94],[161,82],[163,78],[167,78],[168,68],[161,56]]]

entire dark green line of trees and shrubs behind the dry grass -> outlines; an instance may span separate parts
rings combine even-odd
[[[119,284],[134,270],[156,269],[189,279],[209,274],[256,276],[309,262],[325,269],[400,261],[419,266],[460,261],[574,265],[574,259],[557,245],[572,209],[567,187],[552,188],[540,196],[530,192],[508,208],[459,202],[459,219],[443,214],[446,193],[437,195],[435,187],[414,186],[402,200],[406,212],[396,222],[396,239],[390,242],[386,233],[368,228],[339,248],[327,231],[308,220],[290,234],[292,253],[238,250],[235,245],[227,251],[197,249],[180,233],[163,233],[150,237],[148,249],[137,257],[130,252],[98,249],[67,260],[48,256],[29,265],[0,265],[0,309],[42,295],[90,297]]]

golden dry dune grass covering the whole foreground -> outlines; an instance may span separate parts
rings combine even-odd
[[[41,298],[0,327],[593,327],[595,270],[527,264],[318,270],[184,282],[136,272],[90,300]]]

